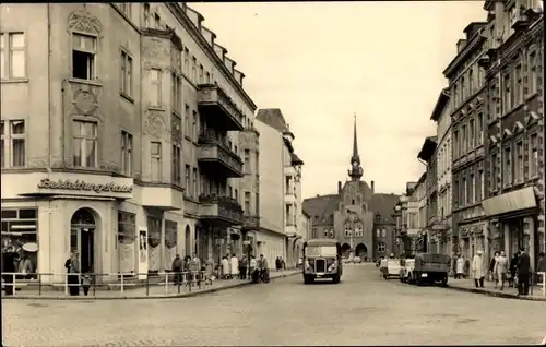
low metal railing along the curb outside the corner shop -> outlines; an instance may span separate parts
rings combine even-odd
[[[51,278],[63,278],[62,282],[54,282]],[[144,279],[139,279],[145,277]],[[47,280],[46,280],[47,279]],[[145,296],[150,290],[164,287],[161,294],[191,292],[194,289],[203,289],[212,286],[211,278],[206,278],[204,271],[195,272],[162,272],[162,273],[2,273],[2,287],[10,289],[12,295],[17,290],[32,292],[38,296],[46,290],[63,290],[69,295],[70,287],[87,288],[92,296],[98,290],[116,290],[123,294],[127,289],[145,288]],[[159,292],[158,292],[159,294]]]

